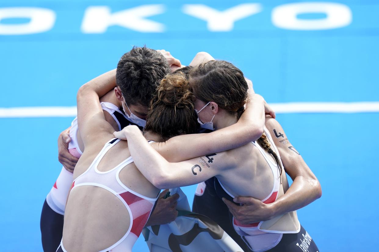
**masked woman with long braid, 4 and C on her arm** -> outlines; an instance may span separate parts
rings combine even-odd
[[[243,114],[246,100],[257,97],[256,94],[247,92],[248,85],[242,72],[226,61],[200,64],[189,75],[189,83],[196,97],[194,108],[198,121],[202,127],[215,129],[215,132],[235,125]],[[167,97],[158,96],[158,100],[165,103]],[[148,121],[154,120],[154,116],[154,113],[149,112]],[[170,140],[164,144],[147,144],[141,132],[133,126],[125,127],[114,135],[128,140],[130,154],[139,171],[158,188],[193,185],[213,178],[218,197],[233,201],[236,196],[248,196],[263,203],[276,201],[288,189],[279,151],[267,128],[255,139],[257,141],[224,152],[209,151],[208,155],[186,161],[180,161],[183,157],[180,153],[197,152],[196,149],[189,149],[186,136],[175,137],[176,142],[182,140],[183,144],[181,147],[175,145],[175,148],[171,148]],[[208,134],[192,137],[191,145],[198,141],[199,148],[202,148],[205,143],[200,139],[205,135]],[[154,136],[150,128],[145,131],[145,137],[149,138],[148,136]],[[213,141],[215,140],[222,141]],[[230,145],[230,139],[224,140],[224,145]],[[241,142],[241,139],[232,141]],[[172,161],[172,157],[176,161]],[[307,251],[318,251],[312,238],[301,227],[296,211],[280,214],[269,221],[250,224],[243,224],[235,218],[231,221],[235,231],[249,249],[255,252],[301,251],[305,246]],[[302,239],[306,239],[306,244],[301,243]]]

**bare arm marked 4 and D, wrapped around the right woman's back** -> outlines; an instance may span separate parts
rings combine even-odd
[[[243,206],[236,206],[224,199],[233,216],[243,224],[266,221],[279,214],[298,210],[321,197],[320,183],[300,154],[290,144],[279,122],[267,117],[266,127],[279,150],[285,171],[290,175],[293,183],[282,197],[270,204],[265,204],[252,197],[236,197],[234,201],[243,204]]]

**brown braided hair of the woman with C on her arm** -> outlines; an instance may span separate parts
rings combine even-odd
[[[247,82],[240,69],[224,60],[211,60],[199,64],[189,71],[189,82],[196,94],[196,99],[204,103],[215,102],[230,114],[240,118],[247,100]],[[273,155],[280,175],[282,165],[276,153],[271,149],[265,134],[258,140],[258,144]]]

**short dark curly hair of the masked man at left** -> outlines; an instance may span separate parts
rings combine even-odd
[[[133,47],[117,64],[116,83],[127,104],[148,107],[160,81],[170,72],[160,52],[146,46]]]

